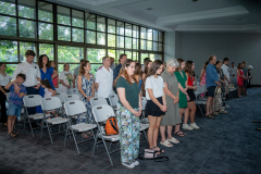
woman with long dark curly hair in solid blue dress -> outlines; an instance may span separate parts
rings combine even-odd
[[[58,76],[58,72],[53,72],[53,67],[51,66],[49,62],[49,58],[46,54],[41,54],[38,59],[38,66],[40,69],[41,73],[41,79],[48,79],[52,89],[55,90],[52,84],[52,78],[55,78]],[[53,76],[51,76],[53,74]],[[40,86],[39,88],[39,95],[44,98],[45,97],[45,88]],[[36,112],[42,113],[41,107],[36,108]]]

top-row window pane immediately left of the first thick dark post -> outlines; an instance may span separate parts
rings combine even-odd
[[[51,23],[53,22],[51,3],[38,1],[38,20]]]

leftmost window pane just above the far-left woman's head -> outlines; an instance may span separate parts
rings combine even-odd
[[[0,40],[0,62],[18,62],[17,41]]]

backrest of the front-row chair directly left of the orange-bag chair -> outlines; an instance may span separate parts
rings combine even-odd
[[[65,113],[69,116],[87,112],[85,103],[80,100],[70,100],[64,102]]]

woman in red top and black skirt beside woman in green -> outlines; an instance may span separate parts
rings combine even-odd
[[[187,109],[185,111],[185,119],[184,119],[183,128],[188,129],[188,130],[192,130],[194,128],[195,129],[199,128],[199,126],[197,126],[197,124],[195,123],[195,114],[196,114],[195,100],[196,100],[196,96],[194,94],[194,90],[197,89],[197,86],[196,86],[194,67],[195,67],[195,65],[194,65],[192,61],[187,61],[186,62],[185,73],[186,73],[186,76],[187,76],[187,94],[188,94],[188,97],[189,97],[189,101],[187,101]],[[190,117],[190,125],[187,124],[188,116]]]

